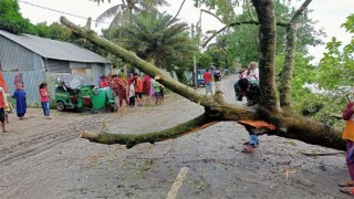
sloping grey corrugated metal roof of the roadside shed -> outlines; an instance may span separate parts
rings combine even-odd
[[[30,34],[17,35],[3,30],[0,30],[0,35],[3,35],[46,59],[85,63],[112,63],[94,52],[67,42],[44,39]]]

